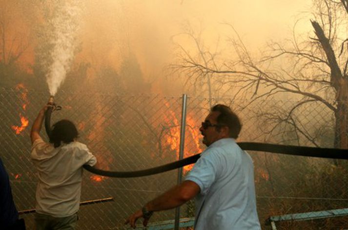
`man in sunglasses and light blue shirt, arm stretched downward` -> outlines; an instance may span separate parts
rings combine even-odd
[[[146,226],[154,211],[179,207],[195,197],[195,230],[261,230],[253,163],[235,141],[241,127],[228,106],[213,106],[200,128],[207,148],[184,182],[146,203],[125,224],[135,228],[143,217]]]

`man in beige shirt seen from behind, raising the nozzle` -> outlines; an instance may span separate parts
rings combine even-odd
[[[39,112],[30,132],[31,159],[38,170],[36,189],[37,230],[74,230],[80,208],[83,165],[95,166],[96,157],[87,146],[77,142],[78,131],[69,120],[52,126],[49,143],[44,142],[40,130],[45,105]]]

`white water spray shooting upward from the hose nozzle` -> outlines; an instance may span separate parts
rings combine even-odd
[[[47,14],[39,30],[38,64],[45,73],[49,93],[55,96],[71,69],[78,47],[82,0],[43,1]],[[48,48],[48,49],[47,49]]]

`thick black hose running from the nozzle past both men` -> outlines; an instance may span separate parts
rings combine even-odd
[[[49,136],[51,133],[50,119],[51,119],[52,107],[46,110],[45,114],[45,128],[46,133]],[[275,144],[265,144],[256,142],[240,142],[237,143],[244,150],[251,151],[263,151],[280,153],[287,155],[296,156],[306,156],[306,157],[320,157],[320,158],[332,158],[332,159],[345,159],[348,160],[348,149],[340,148],[320,148],[320,147],[304,147],[304,146],[285,146],[285,145],[275,145]],[[201,154],[196,154],[179,161],[175,161],[163,166],[147,168],[138,171],[106,171],[91,167],[89,165],[84,165],[84,169],[90,171],[94,174],[108,177],[119,177],[119,178],[129,178],[129,177],[142,177],[149,176],[161,172],[166,172],[179,167],[184,167],[187,165],[194,164]]]

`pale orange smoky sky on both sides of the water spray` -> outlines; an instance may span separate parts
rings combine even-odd
[[[12,31],[28,38],[30,44],[21,61],[33,63],[35,26],[40,23],[40,0],[1,0],[11,18]],[[161,81],[163,67],[175,58],[175,45],[187,50],[192,44],[181,37],[190,26],[207,47],[224,40],[233,25],[250,51],[262,49],[267,41],[282,41],[299,15],[308,11],[310,0],[84,0],[81,2],[76,61],[91,63],[94,69],[110,65],[120,69],[125,57],[134,56],[143,76]],[[297,29],[310,30],[309,23]],[[25,40],[25,39],[24,39]],[[222,46],[224,43],[222,43]],[[223,47],[220,47],[223,49]],[[193,49],[193,48],[192,48]],[[154,79],[154,80],[153,80]]]

